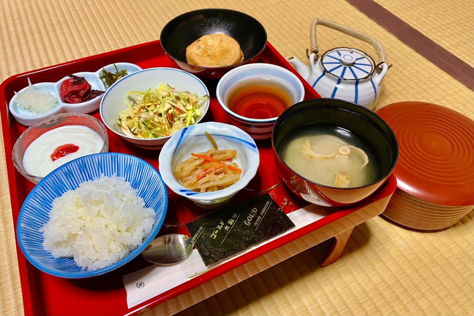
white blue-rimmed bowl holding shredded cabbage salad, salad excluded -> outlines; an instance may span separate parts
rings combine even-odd
[[[160,84],[169,84],[176,90],[188,91],[189,93],[197,93],[198,96],[209,95],[206,85],[196,77],[181,69],[156,67],[147,68],[134,74],[123,77],[115,84],[112,84],[109,90],[104,93],[104,97],[100,102],[100,117],[105,126],[121,138],[131,142],[132,144],[144,148],[159,150],[171,136],[141,139],[134,138],[124,134],[118,125],[118,114],[127,109],[125,100],[128,91],[146,91],[148,88],[155,89]],[[201,104],[202,115],[196,120],[199,123],[209,109],[209,99]]]

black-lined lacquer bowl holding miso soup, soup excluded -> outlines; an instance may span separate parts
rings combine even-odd
[[[347,130],[370,146],[379,165],[375,181],[358,187],[325,186],[288,167],[280,156],[283,140],[293,131],[310,124]],[[286,109],[273,126],[272,146],[283,182],[301,198],[323,206],[342,207],[362,201],[383,185],[398,159],[397,139],[385,121],[363,106],[337,99],[308,100]]]

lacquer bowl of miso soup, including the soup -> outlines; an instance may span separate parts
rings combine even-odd
[[[385,183],[398,159],[397,139],[385,121],[337,99],[286,109],[273,126],[272,145],[285,184],[323,206],[365,199]]]

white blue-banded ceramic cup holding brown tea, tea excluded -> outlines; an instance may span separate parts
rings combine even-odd
[[[300,79],[288,69],[272,64],[248,64],[232,69],[224,74],[216,88],[216,97],[220,106],[228,115],[229,121],[246,131],[253,139],[266,139],[272,136],[273,123],[278,117],[253,119],[228,108],[231,93],[247,85],[269,85],[281,88],[291,100],[291,105],[304,99],[304,86]]]

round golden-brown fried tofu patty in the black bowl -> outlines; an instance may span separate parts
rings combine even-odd
[[[244,53],[235,39],[225,34],[209,34],[186,48],[188,64],[202,67],[235,65],[244,60]]]

